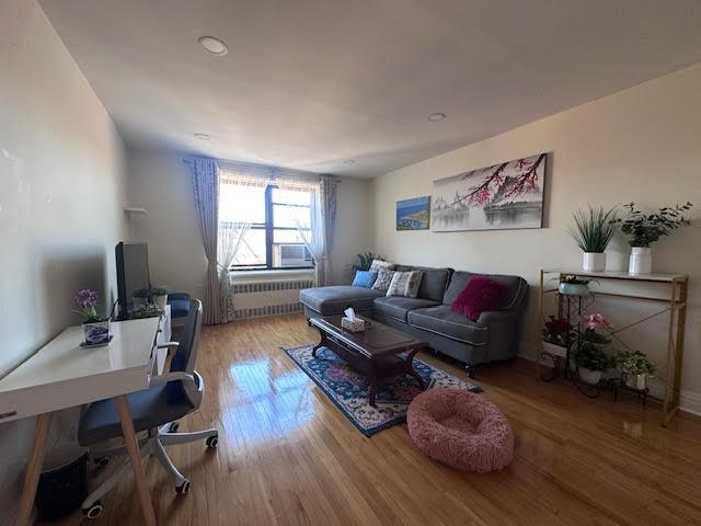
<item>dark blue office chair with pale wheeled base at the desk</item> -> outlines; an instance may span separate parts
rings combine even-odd
[[[216,447],[218,439],[218,431],[214,428],[177,433],[177,420],[199,409],[205,392],[205,380],[195,370],[200,327],[202,302],[191,299],[181,343],[169,342],[161,346],[175,348],[170,373],[153,376],[148,389],[127,395],[136,432],[147,433],[139,439],[141,455],[153,455],[158,458],[173,477],[177,493],[189,491],[189,480],[173,465],[163,446],[204,439],[207,447]],[[80,419],[78,442],[82,446],[93,446],[122,437],[119,416],[112,399],[92,403]],[[111,457],[124,454],[126,446],[95,451],[91,449],[91,458],[99,466],[106,466]],[[83,513],[88,517],[95,518],[102,514],[104,507],[100,499],[112,490],[129,469],[129,462],[126,462],[83,501]]]

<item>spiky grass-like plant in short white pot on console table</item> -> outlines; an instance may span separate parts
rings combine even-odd
[[[588,207],[587,211],[574,214],[574,228],[570,236],[584,252],[582,267],[587,272],[606,270],[606,248],[613,237],[616,226],[616,208],[605,210],[602,207]]]

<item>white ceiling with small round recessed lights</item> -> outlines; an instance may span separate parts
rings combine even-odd
[[[701,60],[699,0],[41,3],[130,145],[349,175]]]

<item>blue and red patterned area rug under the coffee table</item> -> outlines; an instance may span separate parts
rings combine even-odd
[[[284,348],[285,353],[314,380],[326,396],[343,411],[350,422],[365,435],[404,422],[406,408],[421,389],[409,375],[388,378],[377,390],[377,407],[368,403],[368,380],[356,373],[332,351],[322,347],[317,357],[311,355],[313,345]],[[482,388],[437,369],[414,358],[414,369],[422,376],[428,389],[457,388],[481,392]]]

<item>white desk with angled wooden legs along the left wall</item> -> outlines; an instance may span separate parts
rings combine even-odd
[[[51,414],[106,398],[114,398],[117,405],[145,524],[156,524],[125,395],[147,389],[154,367],[162,371],[158,362],[164,354],[157,342],[170,339],[170,312],[161,318],[114,322],[112,332],[110,345],[82,348],[82,327],[70,327],[0,380],[0,422],[37,415],[19,525],[27,524],[32,513]]]

